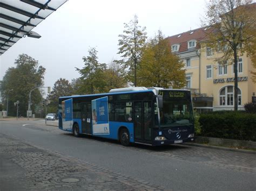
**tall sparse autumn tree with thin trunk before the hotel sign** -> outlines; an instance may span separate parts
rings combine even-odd
[[[255,4],[247,0],[211,0],[207,4],[206,22],[211,26],[205,45],[213,52],[223,51],[215,59],[224,64],[234,63],[234,110],[238,110],[238,57],[252,51],[251,40],[255,38]]]

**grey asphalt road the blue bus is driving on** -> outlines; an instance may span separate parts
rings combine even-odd
[[[75,138],[44,121],[0,121],[0,133],[165,189],[256,190],[255,154],[186,145],[124,147],[113,140]]]

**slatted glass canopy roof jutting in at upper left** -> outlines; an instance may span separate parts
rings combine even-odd
[[[0,55],[22,37],[40,38],[31,31],[67,0],[0,1]]]

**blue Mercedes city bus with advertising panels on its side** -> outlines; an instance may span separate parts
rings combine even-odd
[[[131,87],[59,97],[59,129],[130,143],[169,145],[194,140],[191,93]]]

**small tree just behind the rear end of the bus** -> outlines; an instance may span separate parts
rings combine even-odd
[[[71,96],[73,89],[71,84],[66,79],[58,79],[52,88],[51,93],[48,95],[50,104],[48,105],[49,112],[56,112],[58,110],[59,97]]]

